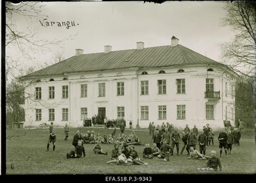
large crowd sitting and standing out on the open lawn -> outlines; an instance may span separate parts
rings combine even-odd
[[[207,164],[204,168],[198,168],[202,171],[217,171],[218,167],[220,171],[222,170],[220,158],[216,157],[216,151],[211,150],[211,156],[206,156],[206,147],[211,144],[214,145],[215,133],[210,128],[209,124],[203,127],[202,130],[198,130],[196,125],[193,128],[189,128],[188,124],[182,131],[181,135],[177,128],[173,124],[162,124],[160,127],[157,125],[154,126],[154,122],[150,122],[149,126],[149,135],[152,137],[153,143],[150,147],[150,143],[145,144],[143,149],[142,156],[144,159],[152,159],[158,157],[163,159],[163,161],[170,161],[170,156],[173,156],[174,149],[176,147],[177,156],[182,154],[184,150],[188,152],[188,159],[201,159],[207,160]],[[53,150],[55,150],[56,142],[56,133],[53,128],[53,122],[49,127],[50,135],[49,142],[47,143],[47,151],[49,150],[49,145],[52,142]],[[255,124],[256,131],[256,124]],[[65,124],[65,141],[68,139],[69,127],[68,124]],[[113,144],[114,148],[111,152],[111,160],[108,161],[108,164],[117,164],[117,165],[148,165],[141,160],[138,155],[138,152],[135,150],[134,145],[143,145],[138,139],[135,131],[132,130],[130,135],[125,135],[124,131],[121,130],[121,134],[115,136],[116,128],[113,129],[111,134],[100,136],[98,133],[95,135],[94,131],[87,131],[86,134],[81,134],[79,131],[76,132],[72,140],[72,145],[75,149],[67,153],[67,158],[79,158],[81,156],[86,156],[83,144],[84,143],[95,143],[93,147],[93,152],[95,154],[105,154],[108,155],[108,152],[102,149],[100,143],[109,143]],[[114,138],[116,138],[114,140]],[[232,145],[239,146],[239,140],[241,138],[241,133],[239,128],[225,127],[221,129],[221,132],[218,135],[219,148],[220,148],[220,157],[223,154],[223,149],[225,155],[231,154]],[[255,138],[256,139],[256,138]],[[182,143],[182,148],[180,149],[180,143]],[[256,140],[255,140],[256,143]],[[199,150],[196,150],[196,145],[198,144]],[[121,148],[120,148],[121,146]],[[129,149],[128,149],[129,147]]]

